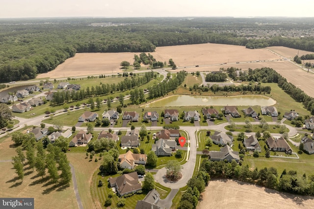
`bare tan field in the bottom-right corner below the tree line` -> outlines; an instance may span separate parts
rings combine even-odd
[[[314,198],[232,180],[209,181],[197,209],[310,209]]]

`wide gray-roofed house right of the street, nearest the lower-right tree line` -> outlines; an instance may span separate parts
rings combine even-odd
[[[220,151],[209,151],[210,161],[228,161],[235,160],[239,163],[239,153],[235,152],[229,145],[220,148]]]

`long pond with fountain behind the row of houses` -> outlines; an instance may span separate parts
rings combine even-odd
[[[179,107],[179,106],[270,106],[276,104],[276,100],[262,95],[239,96],[193,96],[172,95],[158,99],[142,107]]]

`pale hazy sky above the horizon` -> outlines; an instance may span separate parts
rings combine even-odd
[[[314,0],[0,0],[0,18],[314,17]]]

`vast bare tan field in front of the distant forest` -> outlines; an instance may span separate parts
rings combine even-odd
[[[297,54],[297,49],[283,46],[272,46],[261,49],[248,49],[245,46],[198,44],[183,46],[157,47],[152,55],[158,61],[170,58],[176,63],[178,69],[195,71],[214,71],[220,68],[236,67],[242,70],[269,67],[287,78],[295,86],[314,97],[314,92],[308,88],[314,79],[313,73],[293,64],[290,58]],[[299,56],[313,53],[299,51]],[[55,70],[40,74],[37,78],[59,78],[84,75],[99,75],[122,72],[120,63],[124,60],[133,63],[135,53],[77,53],[75,57],[67,59]],[[139,53],[136,53],[139,54]],[[285,60],[283,57],[287,57]],[[259,62],[257,62],[259,61]],[[237,63],[238,62],[238,63]],[[227,64],[223,64],[227,63]],[[198,65],[199,67],[195,67]]]

